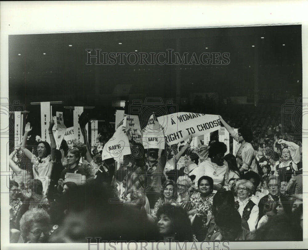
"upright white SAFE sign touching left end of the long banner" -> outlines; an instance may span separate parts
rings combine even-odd
[[[165,140],[164,133],[160,128],[160,124],[157,121],[157,118],[152,114],[149,118],[147,126],[144,128],[142,136],[142,145],[144,149],[164,149]]]

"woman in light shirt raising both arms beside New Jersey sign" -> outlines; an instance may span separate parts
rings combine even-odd
[[[50,145],[47,141],[40,141],[34,153],[26,149],[26,142],[28,134],[32,130],[30,122],[25,126],[25,133],[22,137],[21,149],[24,151],[27,158],[31,159],[33,163],[34,179],[39,179],[43,184],[43,193],[47,193],[48,185],[50,182],[51,172],[56,160],[56,142],[52,132],[55,122],[49,122],[48,133],[50,138]]]

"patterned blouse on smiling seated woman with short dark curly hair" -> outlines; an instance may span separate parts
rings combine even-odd
[[[202,199],[200,193],[192,195],[190,201],[186,203],[185,208],[187,211],[196,209],[198,217],[202,217],[203,227],[206,227],[208,211],[212,210],[213,197],[215,194],[210,194],[205,200]]]

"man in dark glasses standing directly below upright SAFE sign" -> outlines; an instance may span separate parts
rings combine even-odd
[[[165,177],[158,160],[158,149],[148,149],[148,188],[145,190],[150,208],[154,209],[156,201],[160,197],[160,183],[164,183]]]

